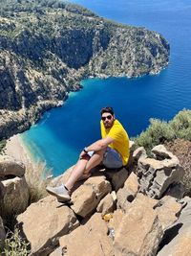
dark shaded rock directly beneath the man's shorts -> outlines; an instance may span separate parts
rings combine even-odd
[[[114,190],[117,192],[119,188],[121,188],[129,176],[129,173],[127,169],[122,168],[119,171],[106,171],[104,174],[107,176],[107,178],[111,181],[112,186],[114,187]]]

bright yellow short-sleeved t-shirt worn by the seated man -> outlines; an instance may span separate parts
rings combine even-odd
[[[123,165],[126,165],[129,159],[129,137],[126,130],[117,121],[117,119],[114,121],[112,128],[105,128],[102,120],[100,125],[101,137],[110,137],[115,140],[109,145],[109,147],[119,152]]]

